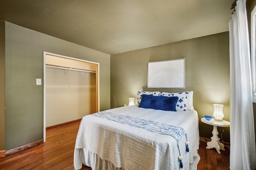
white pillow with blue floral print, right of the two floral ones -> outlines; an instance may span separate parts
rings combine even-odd
[[[177,96],[179,99],[176,104],[176,110],[186,111],[188,92],[180,92],[180,93],[160,92],[159,96],[167,96],[167,97]]]

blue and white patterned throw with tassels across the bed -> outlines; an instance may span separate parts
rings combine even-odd
[[[139,127],[139,128],[142,128],[147,131],[154,132],[154,133],[159,133],[162,135],[169,135],[176,140],[179,153],[180,153],[179,142],[184,137],[184,135],[186,135],[185,130],[182,127],[177,127],[177,126],[159,123],[159,122],[155,122],[155,121],[148,121],[145,119],[140,119],[140,118],[131,117],[131,116],[127,116],[127,115],[118,115],[118,114],[110,113],[110,112],[106,112],[106,111],[101,111],[98,113],[94,113],[92,115],[96,116],[96,117],[108,119],[111,121],[116,121],[118,123],[123,123],[123,124],[134,126],[134,127]],[[186,143],[186,147],[187,147],[186,150],[188,152],[189,150],[188,150],[187,143]],[[181,155],[179,155],[180,168],[182,168],[183,167],[182,158],[180,156]]]

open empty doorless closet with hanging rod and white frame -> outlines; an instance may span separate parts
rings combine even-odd
[[[99,111],[99,63],[44,52],[46,127]]]

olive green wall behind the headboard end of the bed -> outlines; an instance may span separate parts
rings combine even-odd
[[[186,88],[147,88],[147,63],[185,58]],[[229,33],[218,33],[156,47],[111,55],[111,108],[128,104],[137,91],[194,91],[198,117],[212,115],[212,104],[224,104],[224,120],[229,121]],[[136,102],[137,100],[135,100]],[[223,140],[230,141],[229,127],[218,127]],[[199,121],[200,137],[212,137],[212,126]],[[220,135],[220,134],[219,134]]]

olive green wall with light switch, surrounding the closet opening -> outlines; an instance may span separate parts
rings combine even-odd
[[[43,139],[44,51],[100,63],[100,110],[110,108],[110,55],[9,22],[5,36],[5,150]]]

